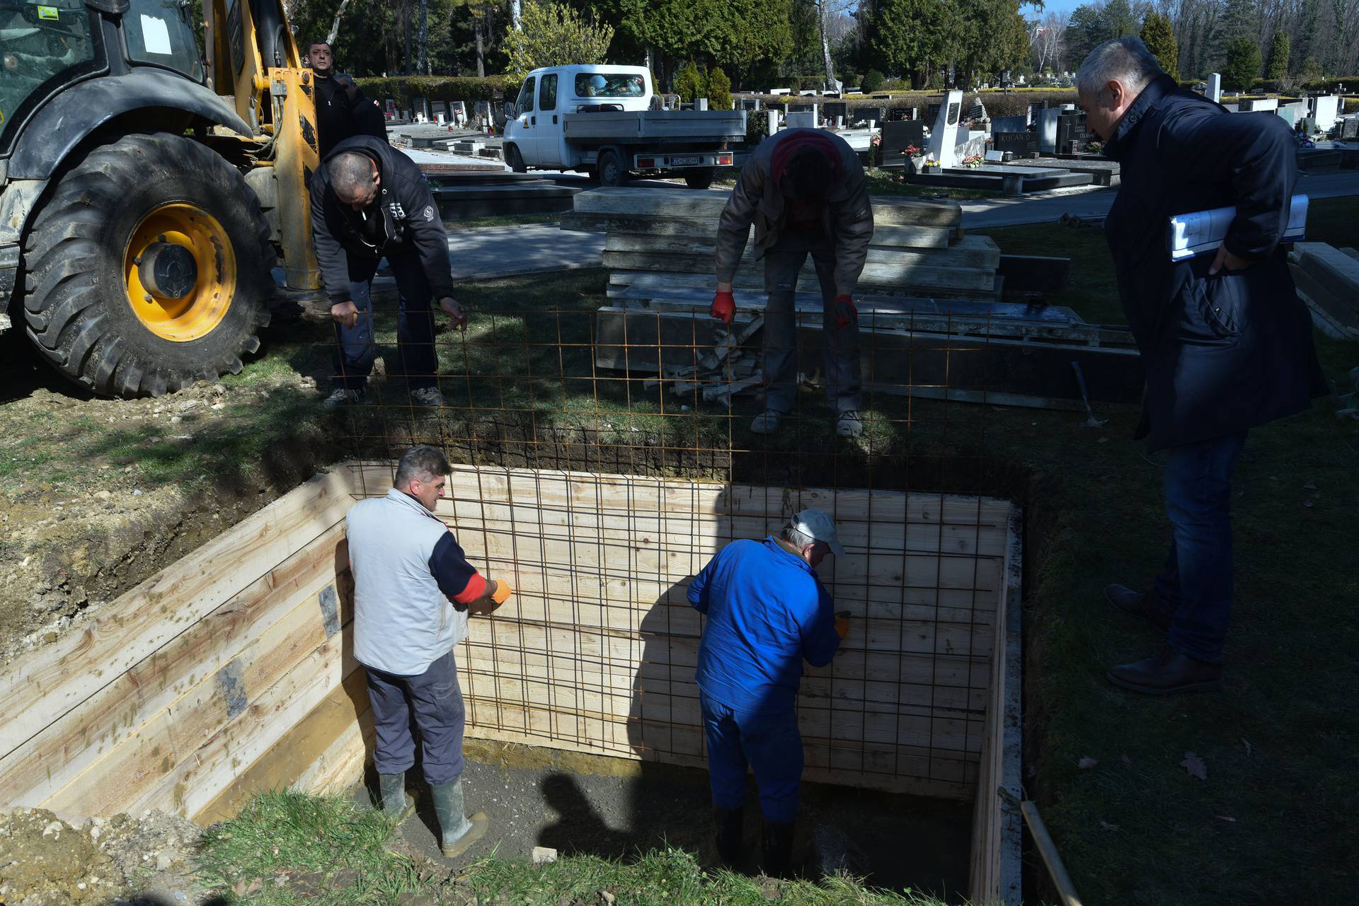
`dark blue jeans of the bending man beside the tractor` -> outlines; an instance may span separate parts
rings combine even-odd
[[[397,278],[400,314],[397,315],[397,368],[405,375],[410,390],[434,387],[438,357],[434,349],[434,311],[429,304],[434,291],[425,278],[424,266],[416,253],[387,258]],[[359,308],[353,327],[336,325],[334,387],[363,390],[372,372],[378,345],[372,336],[372,276],[378,272],[376,258],[349,255],[349,297]]]

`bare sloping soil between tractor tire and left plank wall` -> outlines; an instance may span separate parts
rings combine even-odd
[[[268,437],[250,414],[270,395],[314,395],[308,378],[133,401],[60,380],[20,380],[0,403],[0,662],[53,641],[318,467],[314,435]]]

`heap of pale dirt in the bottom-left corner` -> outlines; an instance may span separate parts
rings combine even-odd
[[[197,903],[207,894],[190,856],[201,829],[148,811],[73,826],[45,808],[0,812],[0,903],[107,906],[155,895]]]

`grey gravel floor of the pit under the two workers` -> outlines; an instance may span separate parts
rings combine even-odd
[[[548,846],[560,854],[628,860],[639,852],[675,846],[716,867],[705,770],[594,761],[617,761],[618,773],[582,773],[565,763],[510,767],[469,758],[463,772],[467,811],[487,812],[491,829],[465,858],[492,853],[530,858],[534,846]],[[400,834],[409,849],[440,860],[438,822],[419,767],[408,773],[408,786],[417,811]],[[364,788],[353,795],[368,799]],[[795,853],[805,860],[803,873],[813,879],[819,876],[811,845],[817,827],[837,831],[822,830],[822,837],[851,850],[870,886],[898,891],[909,887],[961,902],[970,860],[969,803],[803,784]],[[746,860],[738,868],[753,875],[760,849],[753,786],[745,837]]]

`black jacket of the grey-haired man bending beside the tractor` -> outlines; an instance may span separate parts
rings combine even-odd
[[[326,163],[322,162],[311,174],[311,238],[326,295],[333,302],[349,300],[349,255],[375,259],[414,254],[420,258],[434,297],[453,296],[448,236],[443,230],[439,204],[420,167],[401,151],[372,136],[345,139],[330,156],[345,151],[357,151],[376,162],[382,181],[378,183],[378,202],[367,215],[381,217],[382,223],[379,228],[366,234],[363,216],[341,204],[330,187]]]

